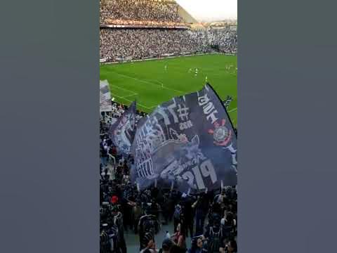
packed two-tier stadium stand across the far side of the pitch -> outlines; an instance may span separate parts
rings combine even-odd
[[[109,62],[194,53],[237,53],[237,32],[193,29],[172,0],[100,0],[100,58]]]

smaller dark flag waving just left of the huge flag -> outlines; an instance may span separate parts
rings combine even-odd
[[[136,101],[134,101],[128,110],[126,110],[117,122],[112,124],[109,129],[109,135],[112,143],[116,145],[118,153],[129,155],[133,138],[136,134]]]

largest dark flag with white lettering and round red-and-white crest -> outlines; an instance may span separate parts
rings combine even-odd
[[[180,190],[237,184],[237,137],[211,86],[159,105],[139,124],[131,153],[139,188],[175,182]]]

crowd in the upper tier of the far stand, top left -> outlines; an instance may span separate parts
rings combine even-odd
[[[183,22],[177,4],[153,0],[100,0],[100,23],[107,20]]]

